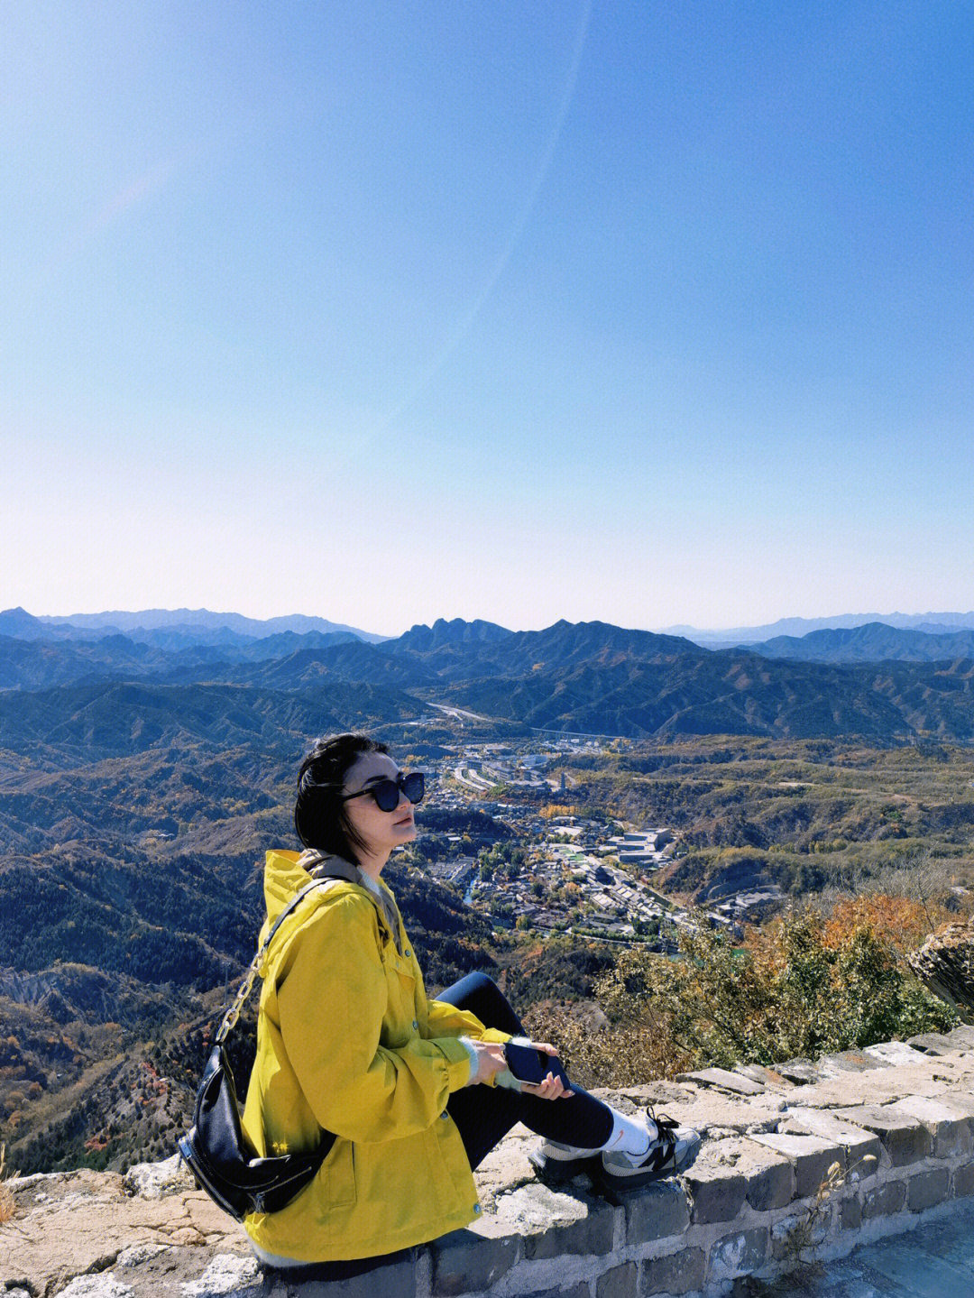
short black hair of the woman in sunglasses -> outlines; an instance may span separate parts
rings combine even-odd
[[[368,735],[332,735],[316,739],[297,774],[294,832],[306,848],[358,862],[364,839],[349,823],[342,801],[349,767],[363,753],[388,753]]]

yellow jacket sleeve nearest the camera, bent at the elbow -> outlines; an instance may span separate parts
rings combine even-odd
[[[322,906],[292,937],[275,979],[298,1085],[336,1136],[377,1142],[424,1131],[469,1080],[467,1049],[451,1035],[380,1044],[386,980],[364,898]]]

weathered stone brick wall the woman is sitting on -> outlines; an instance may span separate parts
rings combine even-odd
[[[262,1271],[176,1159],[27,1176],[9,1182],[0,1286],[5,1298],[712,1298],[974,1195],[974,1028],[603,1094],[699,1128],[696,1164],[610,1205],[584,1177],[540,1185],[527,1159],[537,1137],[517,1128],[477,1172],[468,1231],[340,1284]]]

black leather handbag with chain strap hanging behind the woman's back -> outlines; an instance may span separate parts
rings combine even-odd
[[[285,906],[271,927],[232,1005],[223,1015],[196,1093],[193,1125],[178,1141],[179,1153],[200,1189],[237,1221],[243,1221],[248,1212],[276,1212],[283,1208],[314,1177],[335,1144],[335,1136],[322,1131],[322,1138],[314,1150],[258,1158],[240,1125],[237,1092],[224,1046],[250,996],[271,938],[313,889],[331,883],[333,879],[316,879],[309,884]]]

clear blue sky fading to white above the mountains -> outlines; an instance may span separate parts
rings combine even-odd
[[[968,4],[9,4],[0,607],[974,607]]]

